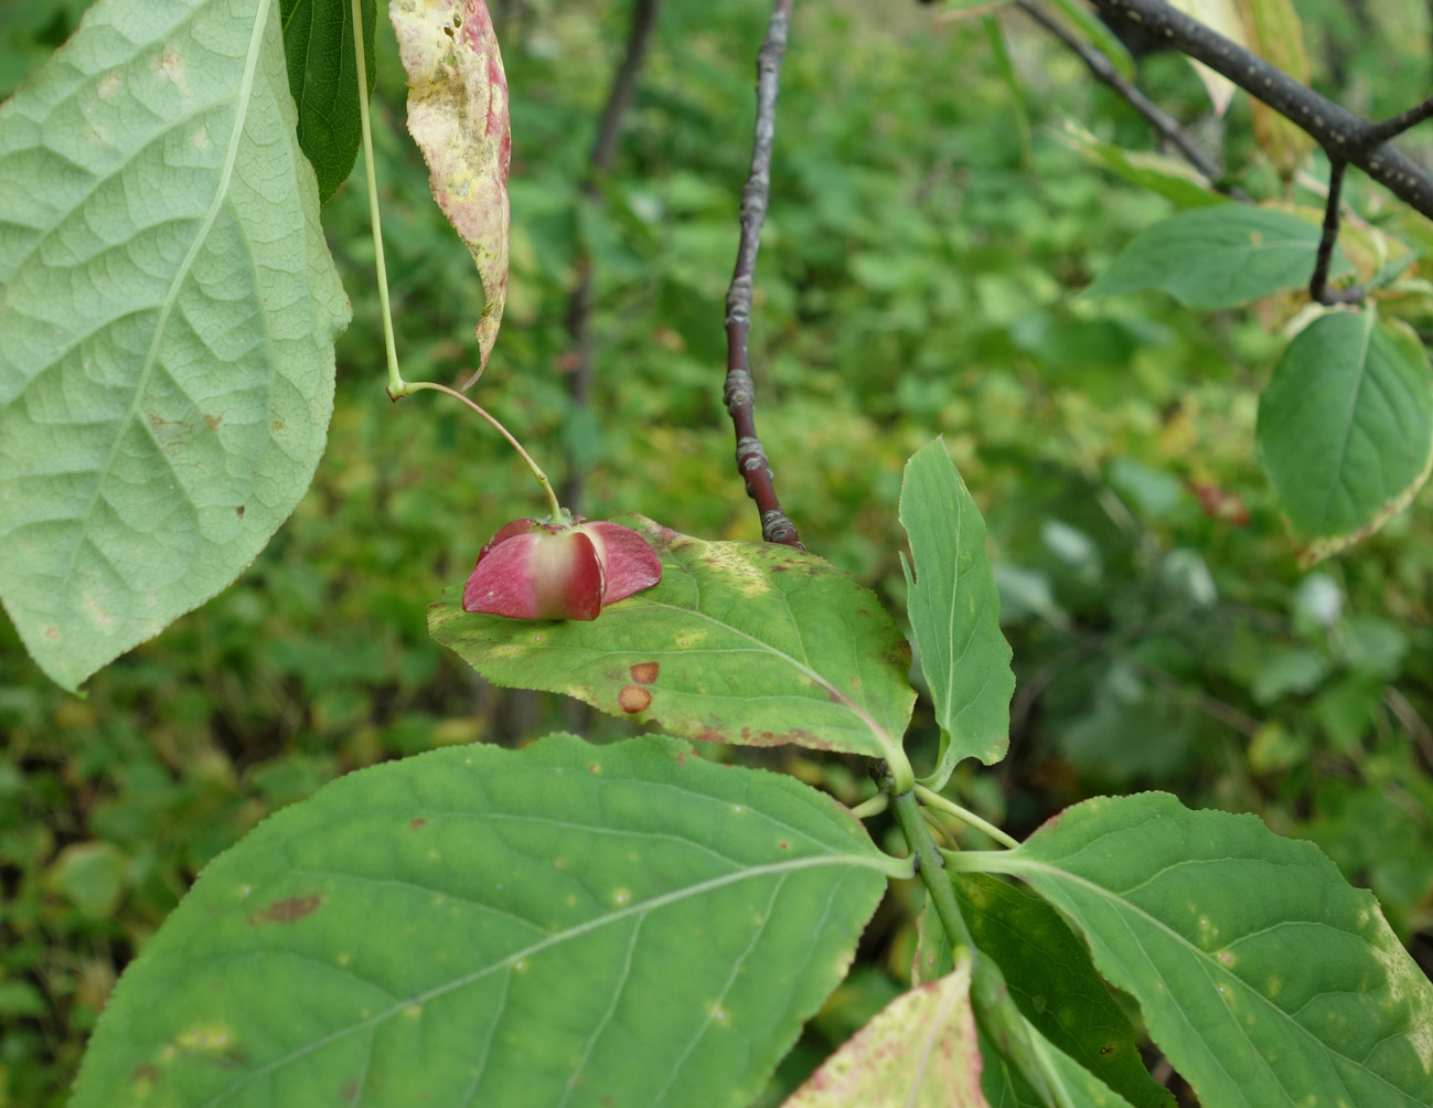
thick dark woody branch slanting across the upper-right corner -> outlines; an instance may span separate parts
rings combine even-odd
[[[1356,165],[1416,211],[1433,219],[1433,175],[1401,151],[1387,145],[1394,135],[1433,115],[1423,103],[1383,123],[1340,108],[1301,85],[1258,54],[1225,39],[1164,0],[1093,0],[1116,22],[1134,23],[1146,34],[1222,73],[1250,96],[1262,100],[1305,130],[1331,162]]]

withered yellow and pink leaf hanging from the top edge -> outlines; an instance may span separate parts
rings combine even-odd
[[[483,282],[474,328],[481,373],[507,302],[512,132],[503,56],[483,0],[388,0],[388,19],[408,73],[408,133],[428,163],[433,198]]]

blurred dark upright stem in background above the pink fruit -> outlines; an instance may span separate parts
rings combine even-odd
[[[635,0],[632,7],[632,27],[628,33],[626,52],[622,63],[612,77],[612,89],[608,92],[608,102],[602,109],[602,122],[598,125],[598,135],[592,140],[592,153],[588,156],[588,179],[582,185],[585,204],[600,204],[602,192],[598,188],[600,178],[612,172],[612,163],[618,155],[618,140],[622,138],[622,118],[632,106],[636,93],[636,77],[642,72],[642,62],[646,59],[648,46],[652,42],[652,27],[656,24],[656,10],[661,0]],[[577,284],[573,285],[572,295],[567,297],[567,337],[572,341],[572,361],[567,376],[567,396],[576,409],[585,409],[592,403],[592,257],[586,252],[577,258]],[[566,450],[566,473],[562,482],[562,502],[573,513],[582,510],[582,495],[585,474],[577,460]]]

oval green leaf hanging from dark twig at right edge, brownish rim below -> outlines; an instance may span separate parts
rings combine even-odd
[[[1433,376],[1407,327],[1331,311],[1295,335],[1258,404],[1280,510],[1320,558],[1403,510],[1433,466]]]

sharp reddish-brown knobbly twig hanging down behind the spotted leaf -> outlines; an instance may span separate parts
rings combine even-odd
[[[741,191],[741,245],[727,290],[727,386],[722,398],[737,431],[737,472],[747,495],[761,513],[761,538],[801,548],[795,525],[781,510],[772,484],[767,452],[757,436],[755,393],[751,381],[751,295],[755,285],[761,225],[771,195],[771,142],[777,125],[777,92],[781,86],[781,57],[787,50],[792,0],[775,0],[767,40],[757,54],[757,129],[751,151],[751,172]],[[804,549],[804,548],[802,548]]]

